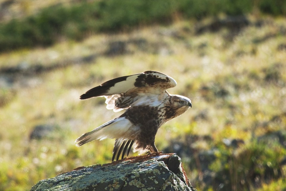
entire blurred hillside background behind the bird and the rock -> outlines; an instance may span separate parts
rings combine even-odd
[[[114,140],[74,140],[120,113],[78,98],[146,70],[192,100],[156,145],[181,157],[194,187],[286,190],[284,1],[0,4],[0,190],[111,162]]]

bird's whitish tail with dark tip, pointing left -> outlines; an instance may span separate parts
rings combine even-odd
[[[125,117],[117,117],[90,132],[84,133],[75,140],[76,146],[79,147],[95,139],[122,138],[126,136],[130,125],[130,121]]]

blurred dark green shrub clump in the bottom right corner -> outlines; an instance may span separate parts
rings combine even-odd
[[[225,145],[218,148],[209,169],[215,174],[214,182],[224,184],[222,190],[251,190],[283,176],[281,161],[286,150],[276,140],[254,140],[238,150]]]

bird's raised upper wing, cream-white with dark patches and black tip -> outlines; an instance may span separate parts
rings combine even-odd
[[[88,90],[80,96],[80,99],[104,96],[106,108],[120,111],[130,107],[139,99],[144,99],[148,95],[163,94],[166,89],[176,85],[177,83],[172,77],[160,72],[146,71],[109,80]]]

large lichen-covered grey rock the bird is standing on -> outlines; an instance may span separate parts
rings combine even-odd
[[[36,190],[195,191],[176,154],[137,156],[109,164],[79,167],[39,181],[31,189]]]

